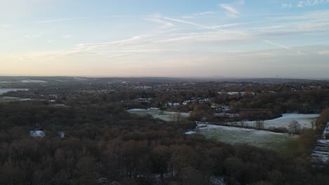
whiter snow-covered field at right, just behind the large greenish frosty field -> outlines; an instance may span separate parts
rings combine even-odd
[[[264,128],[288,128],[291,121],[298,121],[302,128],[312,128],[312,121],[316,121],[320,114],[282,114],[282,117],[264,121]],[[244,121],[248,127],[254,127],[256,121]],[[241,125],[240,122],[233,122]],[[228,123],[231,124],[231,123]]]

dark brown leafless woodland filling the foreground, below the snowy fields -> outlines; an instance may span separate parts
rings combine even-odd
[[[79,102],[79,100],[77,100]],[[121,103],[0,104],[0,184],[328,184],[329,167],[184,135],[194,123],[137,117]],[[28,134],[35,127],[45,138]],[[58,132],[65,132],[60,139]]]

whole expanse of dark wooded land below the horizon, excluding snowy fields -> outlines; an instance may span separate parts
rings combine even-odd
[[[311,163],[309,158],[329,121],[328,83],[143,82],[141,85],[152,87],[148,90],[134,89],[136,84],[122,81],[117,85],[107,81],[85,84],[87,90],[81,84],[53,83],[3,95],[35,101],[0,103],[0,184],[329,182],[329,165]],[[218,93],[229,91],[246,93]],[[138,102],[138,98],[150,101]],[[164,106],[199,99],[209,102]],[[224,121],[214,118],[212,104],[230,107],[229,113],[240,114],[242,120],[276,118],[292,112],[322,113],[316,130],[301,131],[299,152],[288,158],[254,146],[185,135],[186,130],[195,128],[193,121]],[[149,107],[192,113],[188,120],[164,122],[125,111]],[[30,130],[43,130],[46,137],[31,137]]]

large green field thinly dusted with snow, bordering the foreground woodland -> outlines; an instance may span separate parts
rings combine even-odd
[[[217,139],[229,144],[249,144],[280,152],[297,147],[296,135],[205,124],[198,124],[197,130],[207,139]]]

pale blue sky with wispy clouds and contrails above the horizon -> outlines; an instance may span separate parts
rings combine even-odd
[[[329,78],[329,0],[0,0],[0,76]]]

